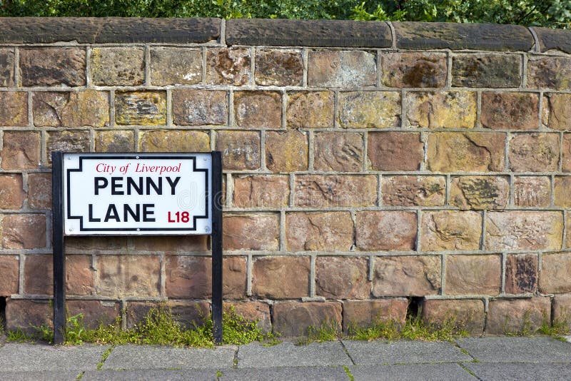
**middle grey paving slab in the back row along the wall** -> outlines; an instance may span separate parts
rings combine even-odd
[[[264,347],[258,342],[243,345],[238,349],[238,367],[312,367],[352,365],[341,343],[312,342],[309,345],[293,345],[282,342]]]

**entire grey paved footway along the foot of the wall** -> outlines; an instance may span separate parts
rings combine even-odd
[[[571,337],[569,337],[571,339]],[[156,345],[0,346],[0,380],[571,380],[571,342],[281,342],[214,349]]]

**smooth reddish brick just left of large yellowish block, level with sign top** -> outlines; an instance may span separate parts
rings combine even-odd
[[[371,132],[367,156],[370,168],[380,171],[418,171],[424,161],[420,133]]]

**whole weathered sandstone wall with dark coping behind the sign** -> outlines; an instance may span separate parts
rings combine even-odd
[[[269,329],[571,313],[571,32],[0,19],[0,295],[51,320],[50,152],[223,152],[224,297]],[[69,238],[69,313],[207,313],[206,237]],[[1,305],[1,303],[0,303]],[[198,307],[198,308],[196,308]],[[124,310],[123,310],[124,309]]]

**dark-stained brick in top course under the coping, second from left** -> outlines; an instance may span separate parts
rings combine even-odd
[[[84,86],[85,49],[20,49],[22,86]]]

